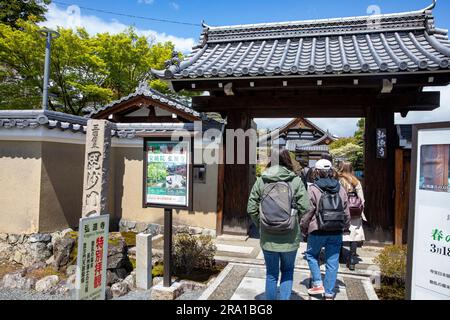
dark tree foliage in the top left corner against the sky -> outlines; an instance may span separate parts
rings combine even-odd
[[[0,0],[0,23],[19,28],[19,20],[45,20],[46,5],[50,0]]]

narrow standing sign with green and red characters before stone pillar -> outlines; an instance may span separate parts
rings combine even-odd
[[[80,219],[77,300],[105,300],[109,215]]]

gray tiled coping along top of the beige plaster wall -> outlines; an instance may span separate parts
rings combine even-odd
[[[87,118],[42,110],[0,110],[0,135],[2,129],[36,129],[45,127],[74,133],[86,133]],[[165,133],[177,130],[194,130],[194,123],[112,123],[112,136],[133,139],[139,134]],[[220,129],[221,124],[203,124],[202,129]]]

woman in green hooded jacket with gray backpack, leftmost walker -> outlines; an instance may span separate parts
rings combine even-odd
[[[266,262],[266,299],[276,300],[281,271],[280,299],[289,300],[301,235],[299,215],[309,210],[301,178],[294,173],[288,150],[274,149],[268,168],[257,179],[247,212],[260,230]]]

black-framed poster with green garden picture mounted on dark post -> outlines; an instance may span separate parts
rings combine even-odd
[[[192,140],[144,139],[144,207],[192,209]]]

